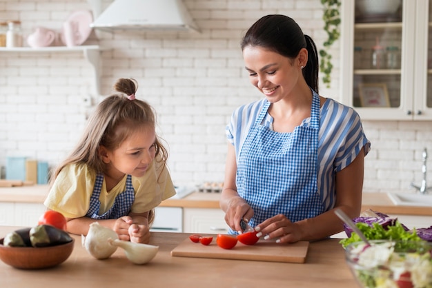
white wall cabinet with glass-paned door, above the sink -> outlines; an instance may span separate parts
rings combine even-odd
[[[355,1],[341,1],[342,103],[364,120],[431,120],[432,1],[403,0],[391,17],[359,15]],[[373,68],[377,43],[398,48],[400,67]]]

